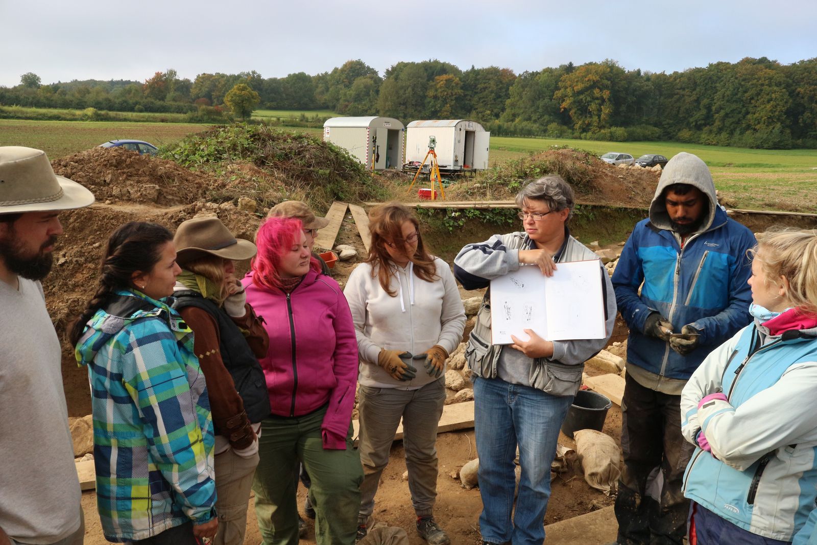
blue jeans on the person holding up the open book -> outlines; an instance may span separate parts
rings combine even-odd
[[[474,379],[474,428],[480,457],[484,541],[542,545],[551,496],[551,462],[559,428],[573,396],[558,397],[499,378]],[[514,458],[519,445],[522,476],[513,511]]]

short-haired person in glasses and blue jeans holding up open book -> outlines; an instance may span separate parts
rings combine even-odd
[[[521,265],[538,266],[551,276],[560,262],[597,259],[570,236],[573,190],[560,176],[545,176],[516,195],[523,230],[467,244],[454,260],[454,275],[466,289]],[[483,543],[541,545],[543,520],[551,493],[550,469],[567,410],[582,382],[584,361],[607,345],[616,314],[609,276],[599,262],[605,309],[605,338],[550,341],[531,329],[529,339],[494,345],[489,291],[468,340],[466,360],[474,373],[474,422],[480,456]],[[549,316],[558,319],[558,316]],[[514,458],[519,447],[522,476],[516,512]]]

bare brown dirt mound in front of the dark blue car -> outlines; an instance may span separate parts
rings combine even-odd
[[[101,202],[189,204],[219,185],[204,172],[123,148],[92,148],[55,159],[51,166],[60,176],[86,186]]]

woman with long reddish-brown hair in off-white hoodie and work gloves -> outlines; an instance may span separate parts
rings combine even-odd
[[[449,537],[433,517],[435,444],[445,401],[445,360],[462,340],[465,310],[448,264],[428,252],[419,222],[408,208],[384,204],[369,212],[369,221],[368,257],[352,271],[344,289],[360,355],[364,481],[358,538],[366,534],[377,484],[402,418],[417,533],[431,545],[446,545]]]

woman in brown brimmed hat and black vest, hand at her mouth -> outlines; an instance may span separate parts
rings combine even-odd
[[[246,529],[252,475],[258,465],[261,420],[270,414],[257,358],[269,346],[264,325],[247,304],[234,261],[256,254],[217,217],[183,222],[173,239],[181,275],[173,307],[194,332],[194,351],[208,385],[216,430],[216,512],[213,543],[240,545]]]

